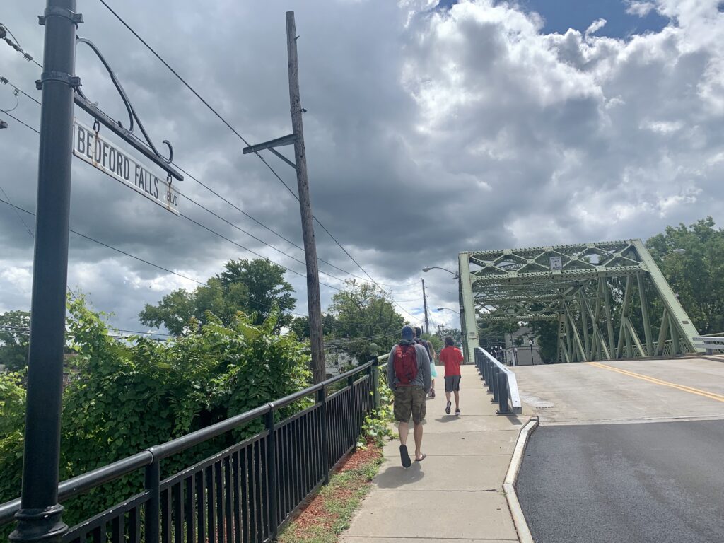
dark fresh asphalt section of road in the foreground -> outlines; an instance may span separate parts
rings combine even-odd
[[[722,543],[724,421],[540,426],[517,491],[536,543]]]

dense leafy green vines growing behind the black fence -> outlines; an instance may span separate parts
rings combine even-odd
[[[83,298],[70,303],[70,345],[75,379],[64,391],[61,479],[80,475],[214,424],[308,386],[309,357],[292,335],[273,332],[278,312],[256,326],[244,313],[228,324],[211,312],[198,334],[159,343],[143,337],[132,345],[112,340]],[[20,376],[0,376],[0,502],[20,491],[22,402]],[[287,408],[285,416],[304,403]],[[163,476],[206,458],[243,437],[249,424],[162,463]],[[67,502],[67,523],[77,523],[121,502],[142,487],[143,472]],[[4,534],[0,534],[3,536]]]

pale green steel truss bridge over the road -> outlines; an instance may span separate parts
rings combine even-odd
[[[557,360],[694,353],[698,335],[641,240],[459,253],[466,362],[481,327],[557,322]]]

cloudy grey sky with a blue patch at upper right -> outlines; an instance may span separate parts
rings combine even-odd
[[[452,269],[458,251],[646,238],[667,224],[722,215],[717,0],[108,2],[251,142],[291,131],[285,11],[295,11],[314,212],[373,277],[395,285],[416,319],[421,268]],[[0,22],[40,62],[43,7],[0,7]],[[177,164],[301,245],[298,203],[264,164],[243,155],[243,143],[98,0],[78,0],[78,11],[79,35],[104,52],[153,140],[171,140]],[[78,49],[76,70],[88,98],[125,120],[87,49]],[[39,72],[0,43],[0,75],[38,98]],[[0,108],[14,105],[12,88],[0,88]],[[12,114],[39,126],[39,106],[23,96]],[[92,123],[82,111],[78,117]],[[0,131],[0,187],[33,211],[38,137],[0,119],[9,122]],[[292,169],[265,156],[295,190]],[[201,281],[230,258],[253,258],[78,159],[72,183],[72,228],[122,251]],[[303,260],[193,180],[180,190]],[[235,243],[303,271],[185,198],[180,205]],[[20,216],[32,230],[33,217]],[[321,258],[363,276],[319,228],[316,239]],[[0,203],[0,312],[29,308],[32,258],[32,237]],[[424,277],[430,306],[455,308],[452,276]],[[305,280],[287,279],[305,313]],[[76,235],[69,285],[114,313],[114,325],[134,330],[143,329],[144,303],[195,286]],[[334,292],[322,286],[324,307]],[[450,311],[432,319],[458,326]]]

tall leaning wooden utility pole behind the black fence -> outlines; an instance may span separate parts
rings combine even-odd
[[[294,12],[287,12],[287,59],[289,60],[289,102],[292,111],[292,132],[294,157],[297,170],[299,209],[302,214],[302,235],[304,256],[307,264],[307,306],[309,308],[309,337],[312,351],[312,375],[315,383],[324,381],[327,369],[324,366],[324,339],[321,330],[321,301],[319,300],[319,269],[317,269],[316,243],[314,241],[314,218],[309,200],[307,179],[307,156],[304,151],[302,129],[302,106],[299,98],[299,66],[297,60],[297,30]]]

